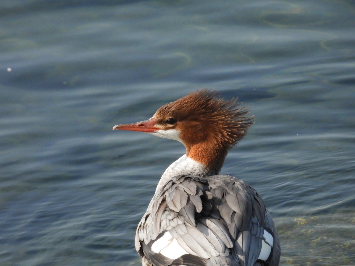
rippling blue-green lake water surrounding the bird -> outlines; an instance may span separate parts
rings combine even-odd
[[[354,1],[0,3],[0,265],[141,265],[172,140],[112,131],[198,88],[255,124],[222,173],[271,211],[281,265],[355,265]]]

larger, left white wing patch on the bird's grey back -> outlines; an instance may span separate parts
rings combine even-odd
[[[160,253],[173,260],[188,254],[185,249],[181,248],[178,241],[173,238],[169,232],[165,232],[162,237],[153,243],[152,250],[155,253]]]

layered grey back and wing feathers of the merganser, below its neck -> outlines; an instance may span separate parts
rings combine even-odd
[[[147,265],[250,266],[262,251],[264,230],[274,238],[265,265],[278,265],[277,233],[253,188],[226,175],[180,175],[155,193],[135,244]]]

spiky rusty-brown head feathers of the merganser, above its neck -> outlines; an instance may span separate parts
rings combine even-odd
[[[245,136],[253,120],[239,105],[237,98],[219,99],[215,91],[201,89],[160,107],[154,116],[162,123],[172,118],[174,128],[184,129],[180,138],[185,146],[208,140],[228,150]]]

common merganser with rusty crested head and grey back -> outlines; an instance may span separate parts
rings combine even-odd
[[[279,265],[279,238],[260,195],[219,174],[228,150],[252,124],[239,105],[201,89],[160,107],[149,120],[113,127],[178,140],[186,148],[163,173],[138,224],[135,246],[143,266]]]

